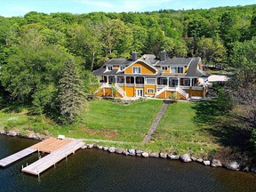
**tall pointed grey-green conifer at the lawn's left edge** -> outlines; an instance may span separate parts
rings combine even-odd
[[[68,59],[61,71],[58,100],[60,101],[61,122],[72,124],[85,106],[83,81],[80,78],[76,64]]]

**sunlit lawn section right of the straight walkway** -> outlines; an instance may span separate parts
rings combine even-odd
[[[191,102],[169,105],[147,148],[195,156],[207,156],[219,148],[205,127],[195,123],[194,106]]]

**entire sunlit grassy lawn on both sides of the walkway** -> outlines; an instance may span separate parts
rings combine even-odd
[[[190,153],[195,156],[208,156],[218,145],[214,144],[207,127],[195,124],[194,103],[177,102],[170,104],[151,140],[140,142],[156,118],[162,100],[136,101],[124,106],[110,100],[88,102],[88,109],[81,121],[73,125],[60,126],[41,116],[28,116],[26,110],[19,113],[0,111],[0,129],[17,132],[40,132],[57,136],[99,140],[120,140],[127,144],[99,142],[101,145],[118,148],[140,148],[148,152]],[[206,131],[205,131],[206,130]]]

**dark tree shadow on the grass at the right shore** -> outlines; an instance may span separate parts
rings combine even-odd
[[[193,108],[196,110],[194,122],[223,147],[216,151],[214,158],[224,162],[236,160],[243,164],[255,162],[251,132],[243,116],[232,115],[217,100],[200,101]]]

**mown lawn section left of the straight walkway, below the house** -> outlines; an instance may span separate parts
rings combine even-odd
[[[162,103],[162,100],[145,100],[124,106],[110,100],[93,100],[88,102],[88,110],[81,122],[52,127],[49,132],[75,138],[140,142]]]

